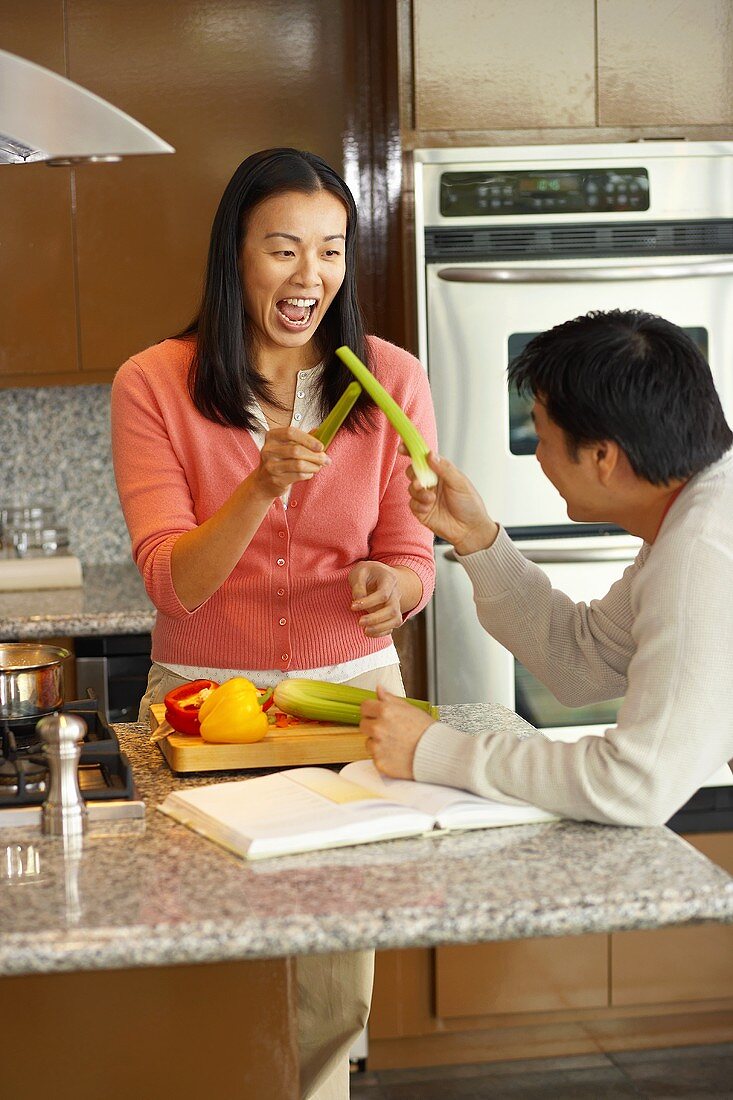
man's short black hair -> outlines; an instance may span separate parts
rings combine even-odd
[[[614,440],[654,485],[691,477],[733,443],[704,355],[653,314],[599,310],[540,332],[508,381],[541,400],[571,455]]]

